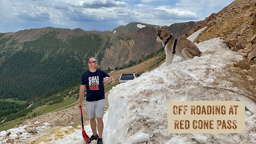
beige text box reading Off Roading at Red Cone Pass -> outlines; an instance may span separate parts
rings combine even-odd
[[[245,127],[241,101],[177,101],[167,110],[171,133],[240,133]]]

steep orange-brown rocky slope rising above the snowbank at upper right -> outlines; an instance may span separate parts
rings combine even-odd
[[[235,66],[256,87],[256,1],[234,1],[220,12],[211,14],[204,23],[201,27],[207,28],[198,35],[195,42],[215,37],[224,39],[231,50],[246,58],[235,63]]]

